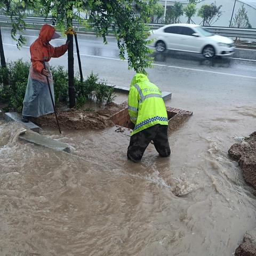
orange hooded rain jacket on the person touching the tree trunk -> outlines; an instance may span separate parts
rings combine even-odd
[[[41,73],[44,68],[43,61],[58,58],[68,50],[68,45],[66,44],[59,47],[50,45],[49,41],[51,41],[54,32],[55,28],[51,25],[43,25],[39,32],[39,37],[30,46],[31,62],[38,73]]]

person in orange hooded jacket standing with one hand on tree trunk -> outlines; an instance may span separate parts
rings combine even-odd
[[[46,76],[49,77],[50,87],[54,99],[54,88],[49,61],[58,58],[68,50],[68,41],[59,47],[53,47],[49,42],[59,38],[55,28],[43,25],[39,37],[30,46],[31,66],[29,69],[28,84],[23,101],[22,121],[28,122],[29,117],[38,117],[53,113],[53,106]],[[45,67],[44,68],[44,61]]]

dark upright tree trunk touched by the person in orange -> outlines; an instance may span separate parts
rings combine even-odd
[[[73,10],[73,7],[70,7]],[[72,27],[72,19],[67,20],[67,28]],[[74,108],[76,106],[75,86],[74,86],[74,44],[73,35],[68,34],[68,96],[69,107]]]

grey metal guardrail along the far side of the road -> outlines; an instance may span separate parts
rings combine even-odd
[[[43,24],[54,25],[51,18],[45,19],[45,18],[37,18],[37,17],[28,17],[28,18],[25,18],[24,21],[30,25],[43,25]],[[10,23],[11,19],[9,16],[0,15],[0,22]],[[165,26],[162,24],[148,24],[148,25],[150,29],[158,29]],[[77,31],[79,31],[79,28],[82,28],[82,26],[76,20],[73,20],[73,26],[77,28]],[[256,39],[256,29],[227,28],[227,27],[205,27],[205,28],[211,33],[218,34],[221,36]]]

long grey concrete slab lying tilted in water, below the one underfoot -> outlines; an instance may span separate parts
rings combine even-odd
[[[71,153],[74,149],[69,146],[67,143],[60,142],[58,140],[49,139],[39,133],[28,131],[19,135],[21,140],[25,140],[31,143],[34,143],[39,146],[51,148],[58,151],[65,151],[67,153]]]

